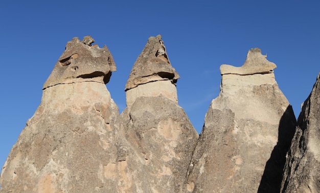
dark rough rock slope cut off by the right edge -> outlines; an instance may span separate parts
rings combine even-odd
[[[320,74],[303,103],[288,151],[281,192],[320,192]]]

